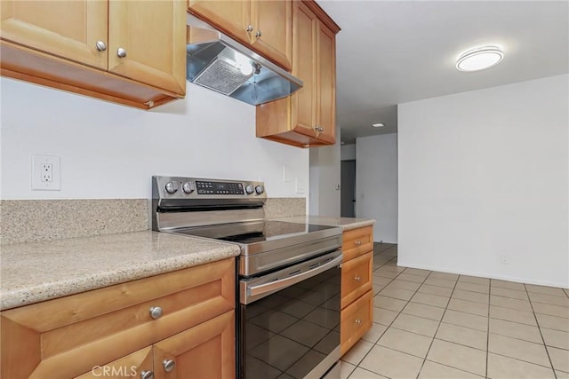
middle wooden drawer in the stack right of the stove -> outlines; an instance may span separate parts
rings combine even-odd
[[[372,252],[341,265],[341,308],[372,289]]]

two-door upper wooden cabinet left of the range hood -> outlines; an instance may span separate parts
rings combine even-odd
[[[186,91],[186,4],[2,1],[2,75],[148,109]]]

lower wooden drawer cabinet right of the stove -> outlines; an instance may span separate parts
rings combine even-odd
[[[342,236],[341,354],[372,328],[373,226],[352,229]]]

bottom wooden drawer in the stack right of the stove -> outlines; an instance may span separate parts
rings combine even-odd
[[[341,354],[343,355],[372,328],[373,291],[367,291],[364,296],[342,310],[340,320]]]

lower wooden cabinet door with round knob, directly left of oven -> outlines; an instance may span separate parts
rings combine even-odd
[[[229,311],[154,345],[156,379],[234,379],[235,312]],[[170,371],[166,371],[169,367]]]

